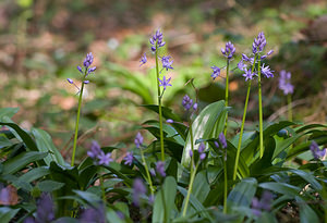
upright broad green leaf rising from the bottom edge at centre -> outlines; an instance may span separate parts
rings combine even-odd
[[[166,177],[161,189],[156,194],[153,222],[168,222],[172,219],[175,193],[175,179],[172,176]]]

